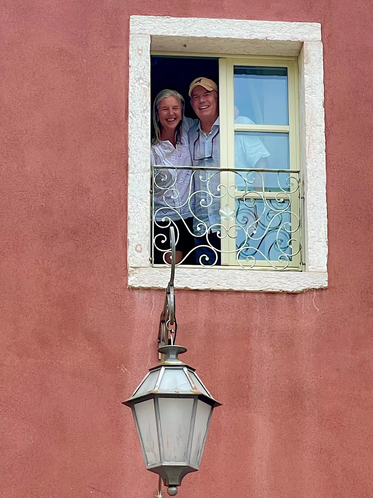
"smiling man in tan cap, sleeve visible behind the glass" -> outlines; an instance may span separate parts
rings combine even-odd
[[[189,148],[193,166],[220,167],[219,101],[218,88],[208,78],[196,78],[190,83],[189,97],[199,121],[189,129]],[[235,109],[235,123],[253,123],[249,118],[239,116]],[[235,136],[235,164],[239,168],[266,168],[270,154],[261,140],[254,135]],[[220,264],[220,184],[219,171],[194,172],[194,214],[193,232],[196,246],[213,246],[196,249],[196,261],[202,264]],[[206,240],[207,236],[207,240]],[[224,236],[224,234],[222,234]],[[208,258],[208,259],[207,259]]]

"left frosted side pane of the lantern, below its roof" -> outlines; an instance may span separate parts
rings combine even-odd
[[[134,405],[137,425],[143,451],[146,455],[146,465],[160,462],[157,423],[155,418],[154,400],[148,399]]]

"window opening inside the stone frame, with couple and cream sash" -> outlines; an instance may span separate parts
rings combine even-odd
[[[177,264],[302,269],[297,100],[294,58],[151,57],[153,266],[172,225]]]

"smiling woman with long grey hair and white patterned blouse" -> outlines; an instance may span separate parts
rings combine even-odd
[[[192,171],[172,168],[191,166],[187,131],[192,120],[185,118],[184,107],[182,95],[174,90],[162,90],[154,100],[155,136],[151,146],[151,164],[170,166],[170,169],[155,170],[153,239],[154,262],[157,264],[164,264],[165,260],[171,263],[171,253],[165,254],[171,247],[170,226],[175,227],[177,238],[176,263],[182,261],[194,247],[191,235],[193,217],[188,206]],[[184,262],[193,263],[194,256],[189,256]]]

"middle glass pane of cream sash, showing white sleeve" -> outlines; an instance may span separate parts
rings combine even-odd
[[[235,132],[235,167],[260,169],[289,169],[289,135],[287,133],[257,133],[251,131]],[[245,172],[242,172],[245,176]],[[240,190],[245,188],[262,188],[263,177],[266,190],[288,190],[286,175],[281,176],[279,185],[278,173],[262,173],[261,175],[246,175],[248,181],[236,175],[236,186]]]

